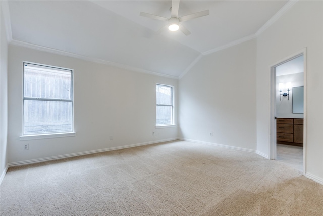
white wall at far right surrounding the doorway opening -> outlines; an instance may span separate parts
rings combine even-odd
[[[298,1],[257,37],[257,150],[269,155],[270,66],[306,48],[306,175],[323,183],[323,2]]]

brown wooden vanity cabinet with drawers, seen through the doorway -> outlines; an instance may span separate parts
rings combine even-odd
[[[303,119],[277,118],[277,143],[303,146]]]

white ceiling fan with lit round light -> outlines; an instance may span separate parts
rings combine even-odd
[[[187,30],[182,24],[180,24],[181,22],[195,19],[198,17],[207,16],[210,14],[209,10],[205,10],[205,11],[200,11],[197,13],[185,15],[182,17],[178,17],[179,5],[180,5],[180,0],[172,0],[172,7],[170,8],[171,18],[161,17],[158,15],[148,14],[145,12],[140,12],[140,16],[148,17],[148,18],[152,18],[152,19],[156,19],[156,20],[161,20],[161,21],[168,21],[168,24],[166,26],[164,26],[163,28],[161,28],[160,30],[163,30],[166,27],[168,27],[168,29],[170,31],[177,31],[180,29],[187,36],[187,35],[191,34],[191,32],[189,32],[189,30]]]

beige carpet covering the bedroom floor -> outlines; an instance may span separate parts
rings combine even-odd
[[[185,141],[13,167],[0,193],[0,215],[323,215],[286,164]]]

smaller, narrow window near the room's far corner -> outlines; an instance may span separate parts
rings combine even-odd
[[[173,87],[157,84],[156,126],[174,124]]]

